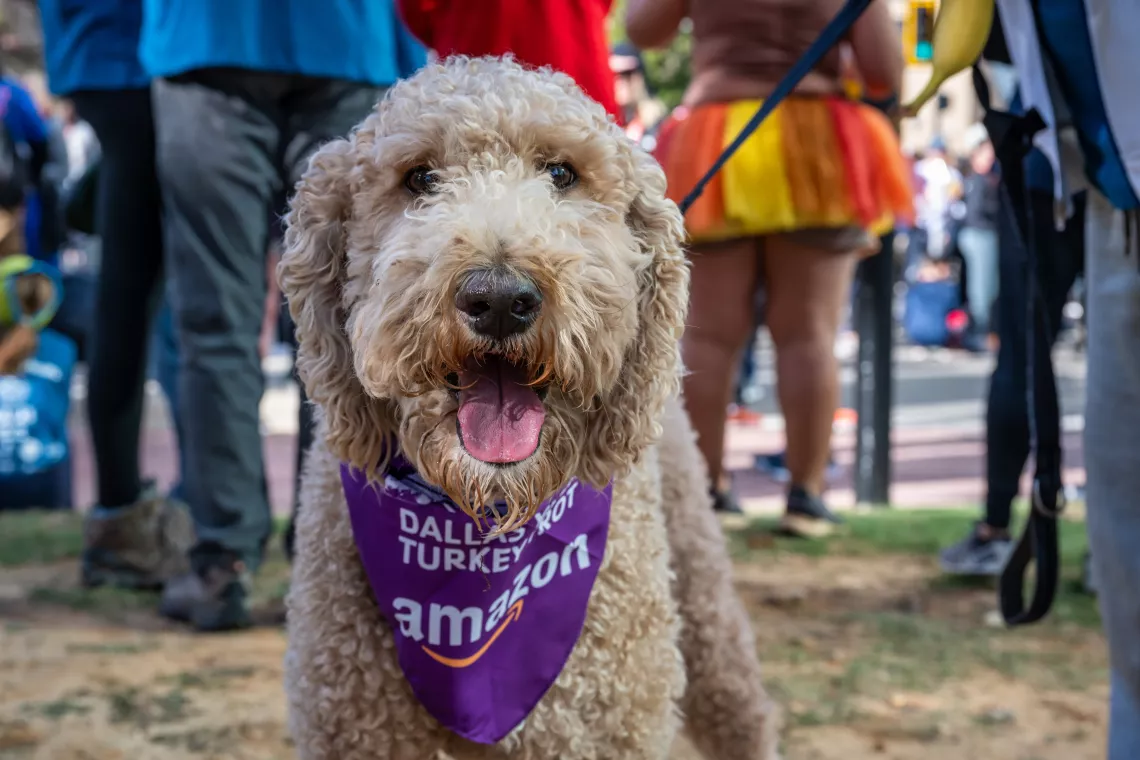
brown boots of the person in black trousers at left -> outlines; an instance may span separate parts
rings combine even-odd
[[[96,506],[83,518],[83,586],[157,590],[189,570],[193,544],[194,523],[186,507],[160,497],[148,484],[135,504]]]

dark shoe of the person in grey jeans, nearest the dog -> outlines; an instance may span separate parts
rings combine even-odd
[[[249,628],[249,588],[243,563],[213,562],[166,583],[158,613],[203,632]]]

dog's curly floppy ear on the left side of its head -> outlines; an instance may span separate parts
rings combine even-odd
[[[345,223],[352,211],[356,137],[320,148],[296,186],[277,277],[296,324],[296,368],[324,410],[329,450],[372,468],[393,431],[386,402],[368,397],[352,369],[345,333]]]

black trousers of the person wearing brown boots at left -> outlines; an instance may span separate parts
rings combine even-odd
[[[154,121],[147,89],[78,92],[73,99],[103,150],[96,201],[103,260],[87,345],[87,402],[99,504],[117,507],[136,501],[141,490],[147,348],[163,297]]]

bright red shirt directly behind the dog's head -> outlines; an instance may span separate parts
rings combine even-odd
[[[514,54],[569,74],[620,121],[605,17],[612,0],[399,0],[412,33],[447,56]]]

